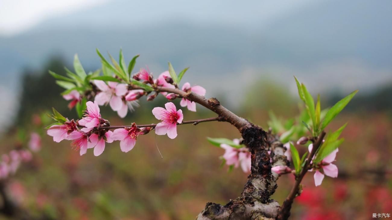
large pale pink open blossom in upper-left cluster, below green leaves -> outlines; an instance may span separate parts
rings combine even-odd
[[[116,111],[120,117],[125,117],[127,115],[127,105],[122,97],[127,94],[128,85],[116,82],[108,82],[108,85],[106,85],[102,80],[94,80],[94,84],[102,91],[95,96],[97,104],[106,105],[109,103],[113,111]]]

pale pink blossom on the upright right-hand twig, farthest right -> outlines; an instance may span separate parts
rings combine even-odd
[[[309,144],[308,150],[311,152],[313,149],[313,144]],[[338,153],[339,149],[332,151],[327,157],[325,157],[321,162],[316,166],[316,173],[314,173],[314,184],[316,186],[320,186],[321,182],[323,182],[324,175],[328,177],[336,178],[338,177],[338,167],[332,162],[335,161],[336,153]],[[312,170],[310,170],[312,171]]]

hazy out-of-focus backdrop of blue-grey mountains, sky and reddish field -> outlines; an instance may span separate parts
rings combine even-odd
[[[128,153],[114,143],[100,157],[80,157],[45,135],[52,106],[76,117],[47,71],[72,70],[76,53],[94,71],[96,48],[115,57],[122,48],[126,61],[140,54],[136,69],[148,65],[154,76],[167,61],[178,71],[191,67],[184,82],[265,129],[269,110],[282,119],[299,114],[293,75],[321,94],[322,108],[359,89],[330,126],[348,121],[339,177],[315,188],[307,175],[292,219],[392,214],[391,8],[389,0],[0,0],[0,153],[25,145],[33,130],[42,135],[42,150],[7,180],[9,191],[33,215],[83,220],[193,219],[206,202],[240,195],[247,174],[220,168],[223,150],[206,141],[239,138],[226,123],[184,125],[174,140],[142,136]],[[102,115],[112,124],[155,123],[151,110],[165,102],[141,101],[123,120],[109,108]],[[214,116],[197,109],[185,119]],[[293,181],[281,177],[274,199],[283,202]]]

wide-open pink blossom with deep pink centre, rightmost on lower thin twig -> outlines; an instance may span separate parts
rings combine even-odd
[[[182,110],[177,111],[176,106],[171,102],[166,103],[165,108],[155,107],[152,109],[152,114],[156,119],[162,120],[155,126],[155,133],[157,135],[167,134],[169,138],[174,139],[177,137],[177,123],[182,123],[184,116]]]

